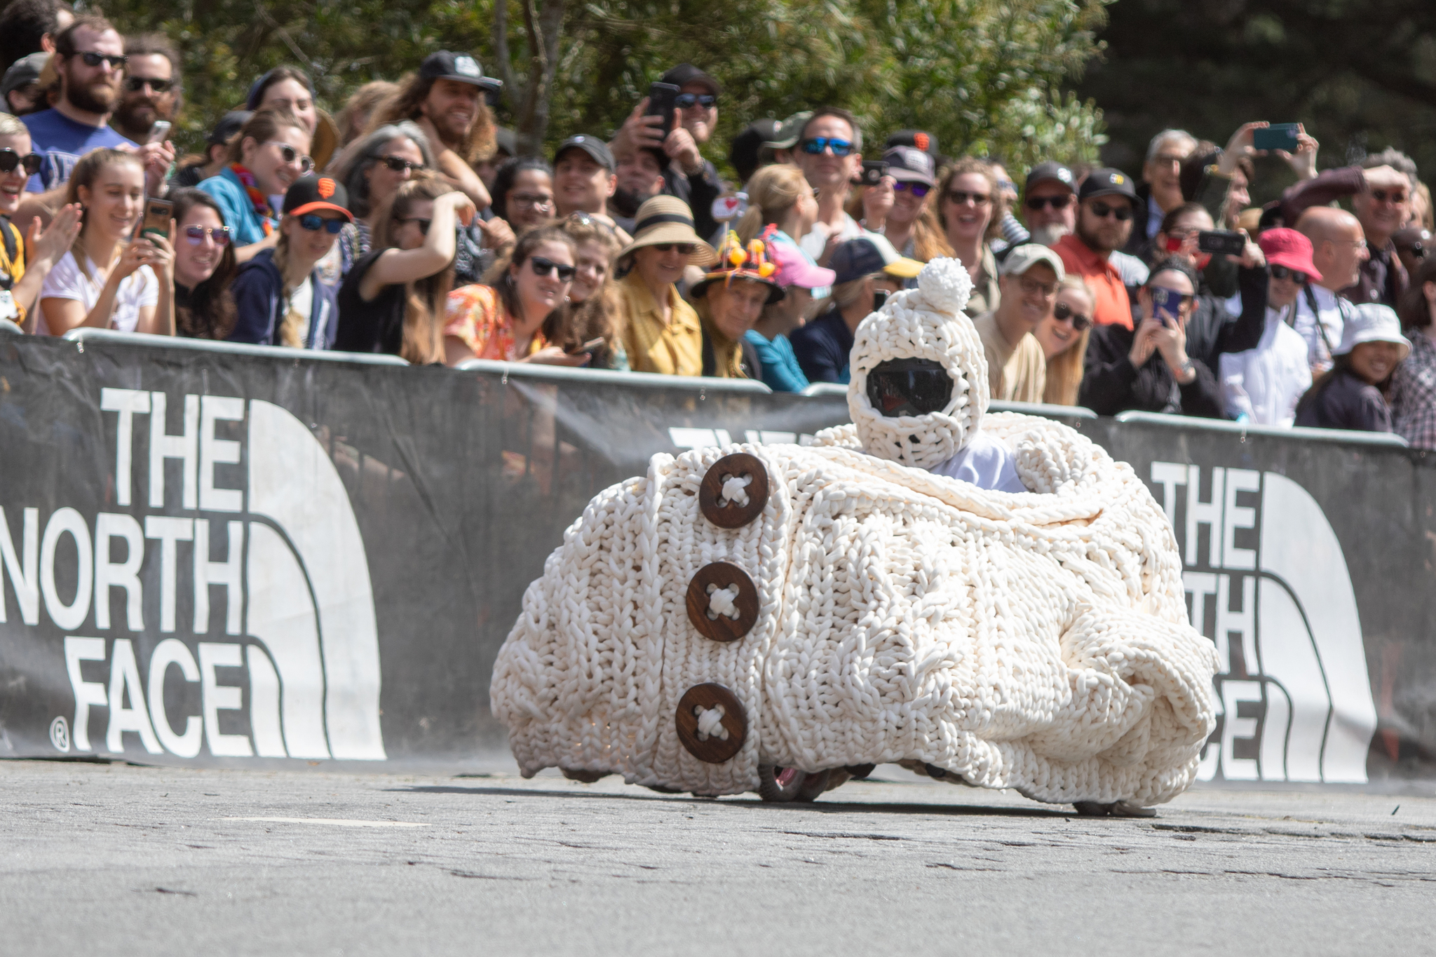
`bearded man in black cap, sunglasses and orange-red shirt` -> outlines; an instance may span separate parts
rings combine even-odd
[[[1132,235],[1137,192],[1120,169],[1093,169],[1077,192],[1077,230],[1053,245],[1068,273],[1087,280],[1099,326],[1132,329],[1132,300],[1111,254]],[[1159,224],[1160,225],[1160,224]]]

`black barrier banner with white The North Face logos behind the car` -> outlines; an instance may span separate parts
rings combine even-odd
[[[503,748],[494,657],[596,492],[846,420],[712,380],[0,337],[0,756],[462,766]],[[1436,779],[1436,463],[1068,422],[1173,521],[1223,666],[1203,779]]]

